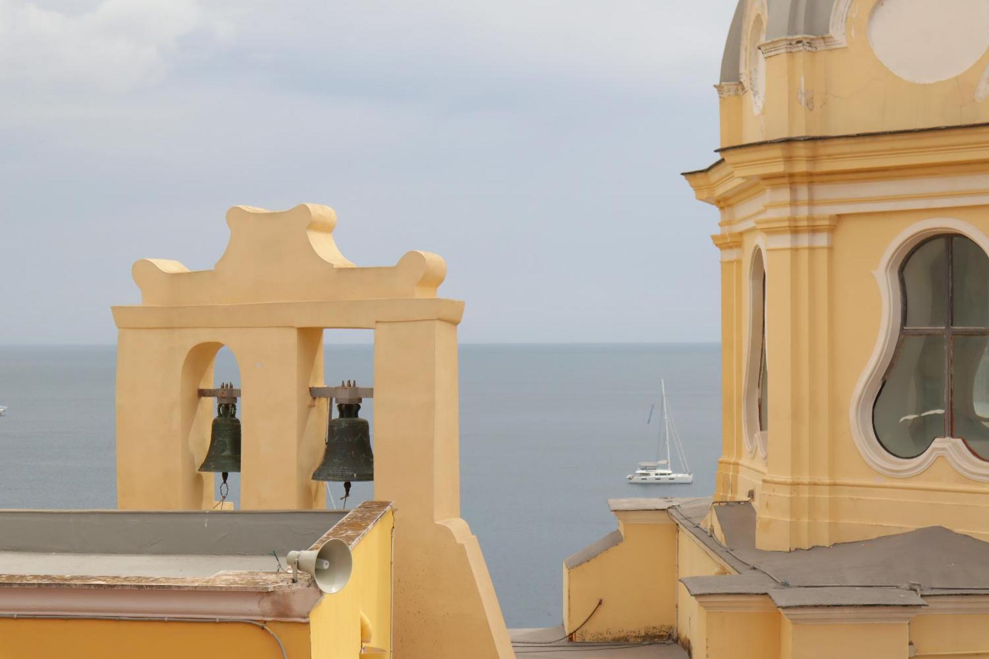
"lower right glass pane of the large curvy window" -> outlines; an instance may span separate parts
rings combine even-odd
[[[989,336],[955,336],[951,360],[951,434],[989,459]]]

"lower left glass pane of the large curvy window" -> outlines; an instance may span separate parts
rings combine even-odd
[[[944,336],[903,336],[886,375],[872,424],[893,455],[916,457],[944,436]]]

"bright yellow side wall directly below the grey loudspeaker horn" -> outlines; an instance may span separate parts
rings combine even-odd
[[[310,612],[314,659],[356,657],[361,651],[363,612],[371,622],[369,645],[392,649],[392,533],[389,511],[352,550],[353,572],[339,593],[323,595]]]

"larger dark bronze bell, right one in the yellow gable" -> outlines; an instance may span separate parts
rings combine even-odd
[[[371,430],[367,420],[357,416],[361,406],[357,403],[343,403],[337,405],[336,409],[339,410],[340,417],[330,419],[326,426],[326,452],[313,472],[313,480],[373,481]]]

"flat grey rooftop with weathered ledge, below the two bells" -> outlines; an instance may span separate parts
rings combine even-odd
[[[352,548],[390,508],[0,511],[0,613],[306,621],[320,593],[286,554]]]

